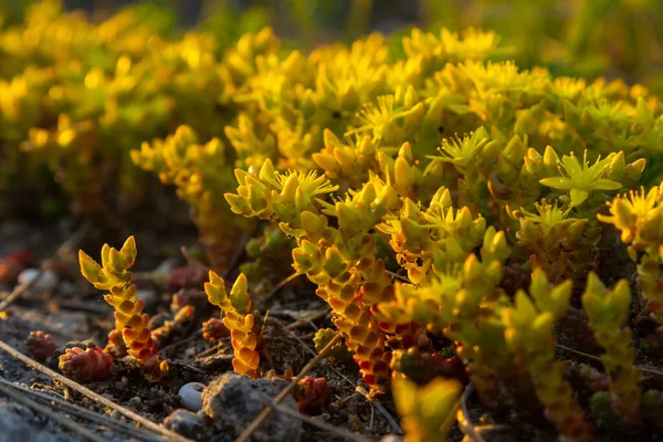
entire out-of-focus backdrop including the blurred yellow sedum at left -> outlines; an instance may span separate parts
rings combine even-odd
[[[180,125],[223,137],[236,114],[219,69],[267,25],[284,53],[378,31],[389,63],[413,28],[493,30],[491,60],[663,96],[663,0],[0,0],[0,219],[56,220],[71,206],[124,221],[149,203],[170,217],[150,229],[170,229],[173,213],[190,223],[130,154]],[[648,171],[657,177],[663,160]]]

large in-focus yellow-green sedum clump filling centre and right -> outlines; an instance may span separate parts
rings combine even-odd
[[[641,86],[486,61],[497,50],[477,31],[444,39],[448,52],[435,52],[413,32],[388,72],[376,35],[308,57],[256,56],[257,77],[238,90],[238,126],[227,129],[242,154],[225,199],[296,240],[293,267],[317,284],[373,393],[390,378],[456,376],[431,350],[442,334],[484,404],[537,403],[566,439],[592,440],[556,360],[555,326],[611,259],[606,203],[645,179],[663,108]],[[480,41],[484,50],[467,50]],[[329,101],[329,84],[346,95]],[[385,264],[393,259],[399,278]],[[514,272],[520,286],[507,291]],[[621,322],[588,315],[594,333],[621,333]],[[636,381],[632,367],[624,358],[613,398]]]

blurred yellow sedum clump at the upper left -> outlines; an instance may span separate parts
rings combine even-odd
[[[23,22],[0,27],[0,191],[38,187],[31,177],[46,164],[75,209],[130,208],[146,191],[131,149],[182,124],[208,138],[230,123],[217,65],[243,25],[256,28],[239,20],[223,41],[175,38],[175,15],[156,3],[98,24],[57,0],[25,8]]]

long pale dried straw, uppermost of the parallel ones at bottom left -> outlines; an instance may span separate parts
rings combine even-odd
[[[120,404],[115,403],[115,402],[104,398],[101,394],[95,393],[87,387],[83,387],[78,382],[76,382],[70,378],[65,378],[64,376],[62,376],[60,373],[56,373],[55,371],[51,370],[50,368],[45,367],[44,365],[38,362],[36,360],[23,355],[15,348],[9,346],[3,340],[0,340],[0,349],[8,352],[11,356],[13,356],[17,359],[20,359],[21,361],[23,361],[25,365],[30,366],[31,368],[43,372],[44,375],[49,376],[50,378],[64,383],[65,386],[67,386],[69,388],[73,389],[73,390],[76,390],[76,391],[83,393],[84,396],[101,403],[102,406],[110,408],[110,409],[124,414],[125,417],[138,422],[143,427],[145,427],[158,434],[165,435],[166,438],[169,438],[169,440],[178,441],[178,442],[191,442],[190,439],[185,438],[180,434],[177,434],[172,431],[166,430],[165,428],[159,427],[156,422],[152,422],[149,419],[144,418],[140,414],[138,414],[127,408],[124,408]]]

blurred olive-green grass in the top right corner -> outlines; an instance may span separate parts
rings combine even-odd
[[[543,65],[557,75],[636,77],[663,91],[663,35],[656,0],[422,1],[430,28],[495,30],[518,65]]]

